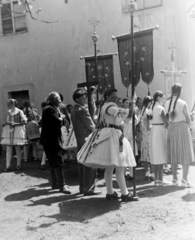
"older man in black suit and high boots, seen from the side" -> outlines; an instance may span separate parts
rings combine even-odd
[[[60,192],[70,194],[69,187],[65,185],[65,176],[62,160],[62,134],[61,127],[63,115],[60,114],[60,96],[51,92],[48,97],[48,106],[42,113],[41,144],[50,164],[52,189],[59,188]]]

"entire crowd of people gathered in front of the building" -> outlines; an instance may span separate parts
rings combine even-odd
[[[97,103],[97,88],[88,91],[73,92],[74,106],[64,104],[62,94],[51,92],[41,104],[41,115],[29,101],[19,109],[16,100],[10,99],[1,138],[6,146],[4,172],[11,171],[15,153],[17,170],[22,168],[22,155],[27,162],[32,151],[37,160],[37,144],[41,144],[40,168],[45,170],[48,160],[51,187],[65,194],[71,194],[63,171],[67,159],[78,161],[79,192],[84,196],[101,194],[95,189],[97,169],[104,172],[107,200],[134,200],[126,181],[134,178],[136,166],[144,167],[144,179],[155,186],[193,187],[188,172],[194,162],[195,112],[180,98],[181,84],[172,86],[168,99],[161,91],[144,99],[136,95],[122,99],[116,89],[108,89]],[[180,166],[181,180],[177,177]],[[114,172],[121,196],[113,189]],[[166,173],[172,173],[172,182],[164,179]]]

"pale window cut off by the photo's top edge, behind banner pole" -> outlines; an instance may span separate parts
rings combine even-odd
[[[131,0],[122,0],[123,1],[123,13],[128,13],[128,5]],[[161,7],[163,5],[163,0],[137,0],[135,1],[137,4],[137,11],[151,9],[156,7]]]

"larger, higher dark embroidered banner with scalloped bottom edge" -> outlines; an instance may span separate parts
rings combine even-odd
[[[131,36],[130,34],[117,37],[119,63],[123,85],[128,88],[131,84]],[[134,85],[140,78],[150,84],[154,77],[153,69],[153,30],[143,30],[134,33]]]

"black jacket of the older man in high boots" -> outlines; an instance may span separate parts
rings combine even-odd
[[[43,146],[62,146],[62,120],[59,111],[49,104],[42,113],[41,144]]]

